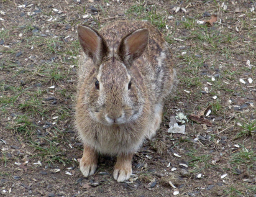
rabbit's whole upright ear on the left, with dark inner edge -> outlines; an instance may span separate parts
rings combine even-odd
[[[77,26],[79,43],[84,53],[92,58],[95,64],[100,64],[108,53],[108,46],[100,34],[89,26]]]

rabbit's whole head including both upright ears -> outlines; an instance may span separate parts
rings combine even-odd
[[[92,67],[85,77],[82,103],[90,117],[104,125],[135,121],[141,115],[145,98],[143,79],[133,61],[143,54],[148,43],[148,29],[138,29],[124,36],[116,49],[89,26],[78,26],[78,38],[85,61],[80,67]]]

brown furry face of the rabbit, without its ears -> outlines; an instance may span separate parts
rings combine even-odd
[[[105,125],[128,123],[141,113],[136,83],[125,65],[115,58],[100,66],[88,99],[90,115]]]

